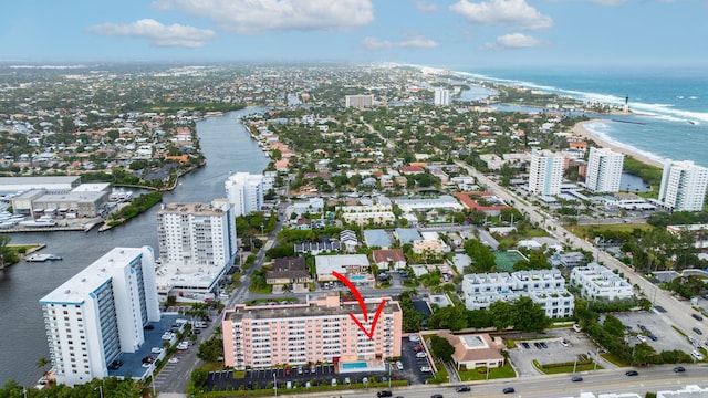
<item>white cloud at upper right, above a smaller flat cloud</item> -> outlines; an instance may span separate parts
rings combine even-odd
[[[529,6],[525,0],[490,0],[471,3],[459,0],[450,11],[461,14],[470,23],[501,25],[512,29],[548,29],[553,20]]]

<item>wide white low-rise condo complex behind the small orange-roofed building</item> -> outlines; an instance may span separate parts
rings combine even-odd
[[[559,270],[467,274],[462,295],[467,310],[488,310],[493,302],[512,302],[523,296],[540,304],[551,318],[571,316],[575,307],[575,298],[565,289]]]

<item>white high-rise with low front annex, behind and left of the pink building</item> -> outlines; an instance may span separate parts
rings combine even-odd
[[[237,255],[236,216],[226,198],[210,203],[168,203],[157,211],[157,239],[162,264],[158,291],[201,298]]]

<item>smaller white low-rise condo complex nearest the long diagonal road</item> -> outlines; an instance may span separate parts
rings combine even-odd
[[[571,271],[571,285],[587,300],[622,300],[634,297],[634,287],[606,266],[590,263]]]

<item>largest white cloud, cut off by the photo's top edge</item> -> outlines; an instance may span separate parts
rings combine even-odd
[[[181,10],[233,33],[345,30],[374,20],[371,0],[155,0],[159,10]]]

